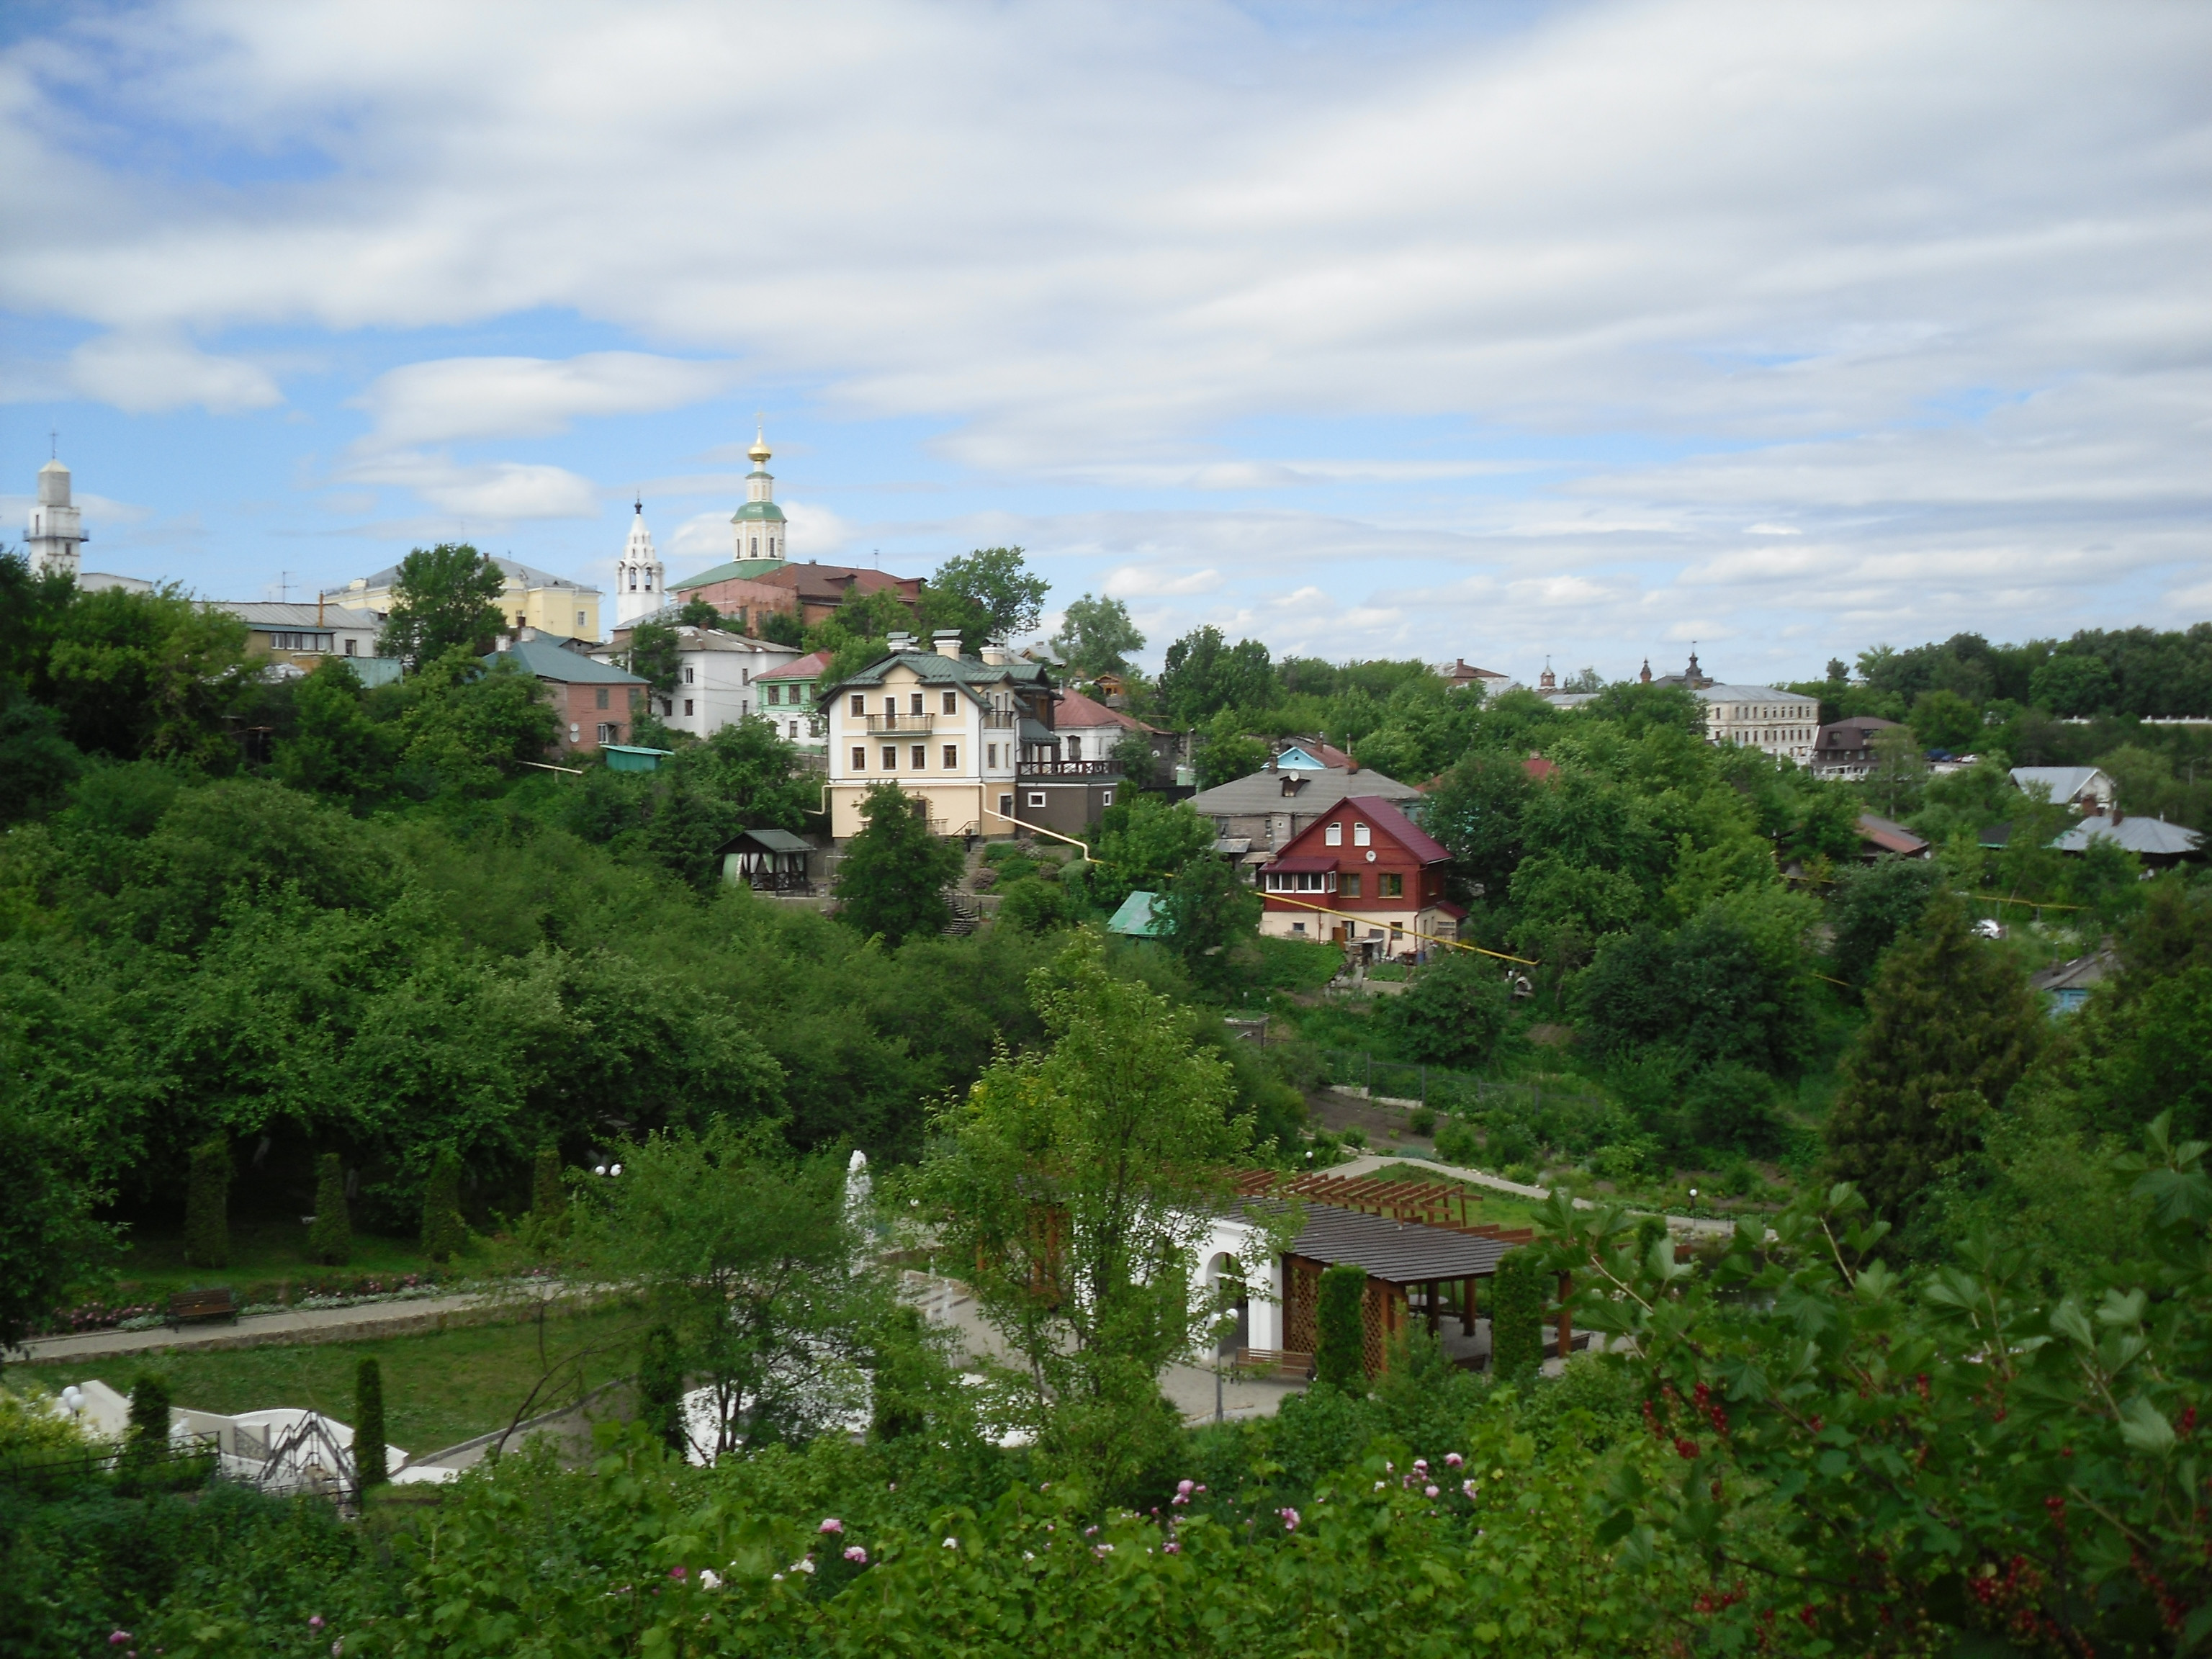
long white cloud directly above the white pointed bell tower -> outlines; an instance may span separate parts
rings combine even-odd
[[[409,363],[369,383],[374,447],[436,445],[456,438],[544,438],[580,416],[679,409],[719,396],[732,363],[690,363],[644,352],[588,352],[573,358],[449,356]]]

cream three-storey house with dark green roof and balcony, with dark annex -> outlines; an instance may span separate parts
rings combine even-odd
[[[967,657],[951,630],[929,648],[891,635],[889,655],[821,688],[830,834],[856,836],[860,801],[896,783],[945,836],[1079,836],[1126,783],[1110,759],[1057,759],[1057,697],[1044,666],[1002,648]]]

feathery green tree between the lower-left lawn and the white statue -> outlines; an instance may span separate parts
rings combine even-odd
[[[701,1451],[803,1442],[860,1405],[887,1294],[836,1157],[801,1159],[774,1126],[717,1119],[703,1135],[648,1135],[584,1194],[584,1259],[641,1290],[675,1334],[679,1376],[712,1389],[719,1431]],[[655,1394],[668,1391],[664,1369]]]

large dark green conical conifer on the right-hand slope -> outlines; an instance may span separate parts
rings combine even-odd
[[[1966,907],[1933,900],[1882,958],[1867,1024],[1843,1057],[1827,1172],[1896,1223],[1980,1146],[2046,1031],[2026,978],[1973,938]]]

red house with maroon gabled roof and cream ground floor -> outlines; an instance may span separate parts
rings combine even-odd
[[[1259,931],[1418,958],[1458,938],[1467,911],[1444,898],[1451,854],[1376,794],[1347,794],[1261,867]]]

